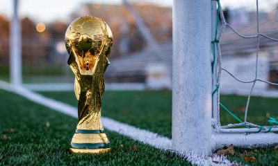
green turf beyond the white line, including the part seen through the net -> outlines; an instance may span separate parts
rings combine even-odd
[[[77,105],[73,92],[44,92],[43,95],[74,106]],[[106,91],[103,98],[103,116],[125,122],[142,129],[148,129],[171,138],[171,92],[170,91]],[[222,95],[221,102],[243,120],[247,97]],[[248,119],[258,124],[268,124],[268,116],[277,116],[277,98],[252,97]],[[234,118],[220,110],[222,124],[236,122]],[[256,162],[251,165],[277,165],[278,150],[235,148],[236,154],[228,156],[230,160],[245,163],[245,156],[254,156]],[[255,151],[255,152],[254,152]]]

